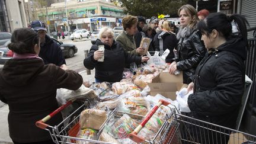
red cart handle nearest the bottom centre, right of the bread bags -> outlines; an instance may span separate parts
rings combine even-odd
[[[136,127],[135,130],[133,130],[132,133],[130,133],[128,135],[128,137],[130,139],[132,139],[134,142],[140,143],[145,141],[145,139],[143,139],[142,137],[137,136],[137,134],[140,132],[140,130],[145,126],[146,123],[148,123],[149,119],[151,119],[151,117],[153,116],[153,114],[155,114],[156,110],[158,110],[158,108],[161,105],[168,105],[171,104],[168,101],[165,100],[159,100],[158,105],[155,105],[155,107],[152,108],[151,112],[148,114],[148,116],[146,116],[146,118],[139,124],[139,126]]]

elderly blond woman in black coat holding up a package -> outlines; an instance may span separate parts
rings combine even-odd
[[[126,63],[139,64],[148,60],[148,57],[125,52],[121,44],[114,41],[113,37],[114,33],[111,28],[101,28],[100,40],[96,40],[89,50],[88,56],[84,59],[85,68],[95,68],[96,82],[119,82],[122,79]],[[100,45],[104,46],[104,52],[98,49]],[[104,61],[98,62],[98,59],[102,57],[104,57]]]

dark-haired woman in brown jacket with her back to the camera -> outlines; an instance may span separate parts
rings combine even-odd
[[[14,52],[0,71],[0,100],[9,105],[9,136],[14,143],[53,143],[49,132],[36,127],[35,122],[58,108],[56,89],[76,90],[82,76],[59,66],[44,65],[38,56],[40,40],[29,28],[12,33],[8,48]],[[56,125],[61,114],[47,121]]]

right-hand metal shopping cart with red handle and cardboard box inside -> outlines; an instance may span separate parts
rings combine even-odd
[[[132,132],[129,137],[135,142],[149,142],[155,143],[155,138],[159,135],[158,143],[234,143],[234,144],[252,144],[256,143],[256,136],[248,133],[239,132],[238,130],[229,129],[228,127],[219,126],[217,124],[208,123],[206,121],[197,120],[192,117],[184,116],[176,113],[175,108],[167,116],[167,121],[162,125],[155,138],[147,141],[142,137],[137,136],[145,123],[155,113],[159,105],[168,105],[166,101],[159,101],[151,113],[146,117],[142,123]],[[176,108],[177,109],[177,108]]]

